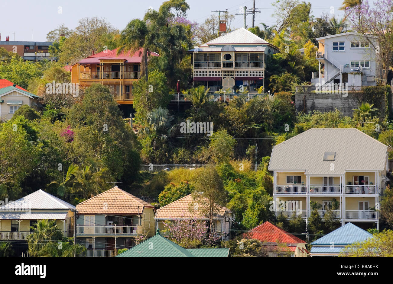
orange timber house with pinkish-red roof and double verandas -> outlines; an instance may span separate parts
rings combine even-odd
[[[127,51],[119,55],[117,52],[117,48],[99,53],[93,51],[92,55],[73,64],[71,82],[82,88],[93,83],[109,86],[120,109],[127,116],[130,105],[134,103],[132,84],[140,78],[142,52],[141,50],[135,53]],[[149,56],[159,55],[150,52]]]

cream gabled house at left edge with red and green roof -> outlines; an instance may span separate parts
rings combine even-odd
[[[0,79],[0,118],[10,120],[15,111],[27,104],[29,107],[40,107],[40,96],[29,93],[26,89],[10,82]]]

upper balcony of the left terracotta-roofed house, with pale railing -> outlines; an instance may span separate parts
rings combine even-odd
[[[76,234],[81,235],[130,235],[136,236],[137,225],[77,225]]]

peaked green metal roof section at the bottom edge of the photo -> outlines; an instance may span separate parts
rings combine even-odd
[[[195,257],[187,249],[156,234],[116,257]]]

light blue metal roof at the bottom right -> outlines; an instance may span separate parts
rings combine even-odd
[[[318,238],[318,240],[312,242],[314,245],[348,245],[354,242],[363,242],[367,238],[373,238],[374,236],[364,229],[360,229],[352,223],[347,223],[344,226],[332,231],[331,233]],[[314,248],[314,247],[313,247]]]

